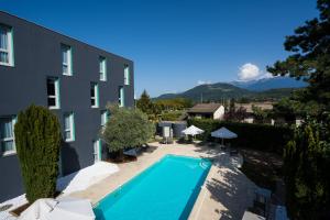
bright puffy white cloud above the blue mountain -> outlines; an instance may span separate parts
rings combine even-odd
[[[264,74],[256,65],[246,63],[240,67],[238,77],[239,80],[250,81],[261,78],[271,78],[272,75],[270,73]]]

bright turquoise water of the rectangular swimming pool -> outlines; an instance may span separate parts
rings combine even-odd
[[[97,220],[183,220],[211,167],[202,158],[166,155],[95,208]]]

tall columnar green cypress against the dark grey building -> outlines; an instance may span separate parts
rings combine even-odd
[[[14,133],[28,200],[54,197],[61,145],[57,117],[32,105],[19,113]]]

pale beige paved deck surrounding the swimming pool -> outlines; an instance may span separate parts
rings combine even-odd
[[[242,157],[240,155],[230,156],[228,152],[221,151],[217,146],[208,147],[198,144],[151,143],[147,151],[140,155],[138,161],[119,164],[118,173],[86,190],[73,193],[70,196],[90,199],[95,205],[166,154],[212,161],[212,167],[201,187],[189,220],[242,219],[245,209],[252,206],[256,186],[238,168],[242,164]]]

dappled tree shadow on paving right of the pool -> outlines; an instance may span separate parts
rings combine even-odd
[[[211,199],[223,206],[221,210],[215,209],[219,219],[242,219],[245,209],[252,205],[256,186],[237,167],[238,157],[230,156],[228,152],[221,151],[218,146],[198,145],[196,151],[202,153],[205,158],[211,160],[213,166],[218,168],[212,178],[207,180],[206,188],[209,190]]]

